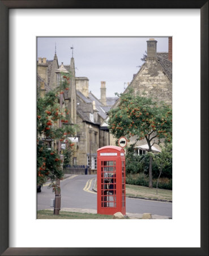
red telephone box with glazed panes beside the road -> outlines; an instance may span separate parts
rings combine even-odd
[[[97,213],[126,214],[125,151],[117,146],[97,150]]]

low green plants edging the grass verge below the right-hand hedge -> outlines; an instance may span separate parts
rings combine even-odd
[[[129,174],[126,177],[126,184],[149,187],[149,178],[143,173],[137,175]],[[153,187],[156,188],[156,185],[157,179],[153,179]],[[160,178],[158,188],[172,189],[172,179]]]

